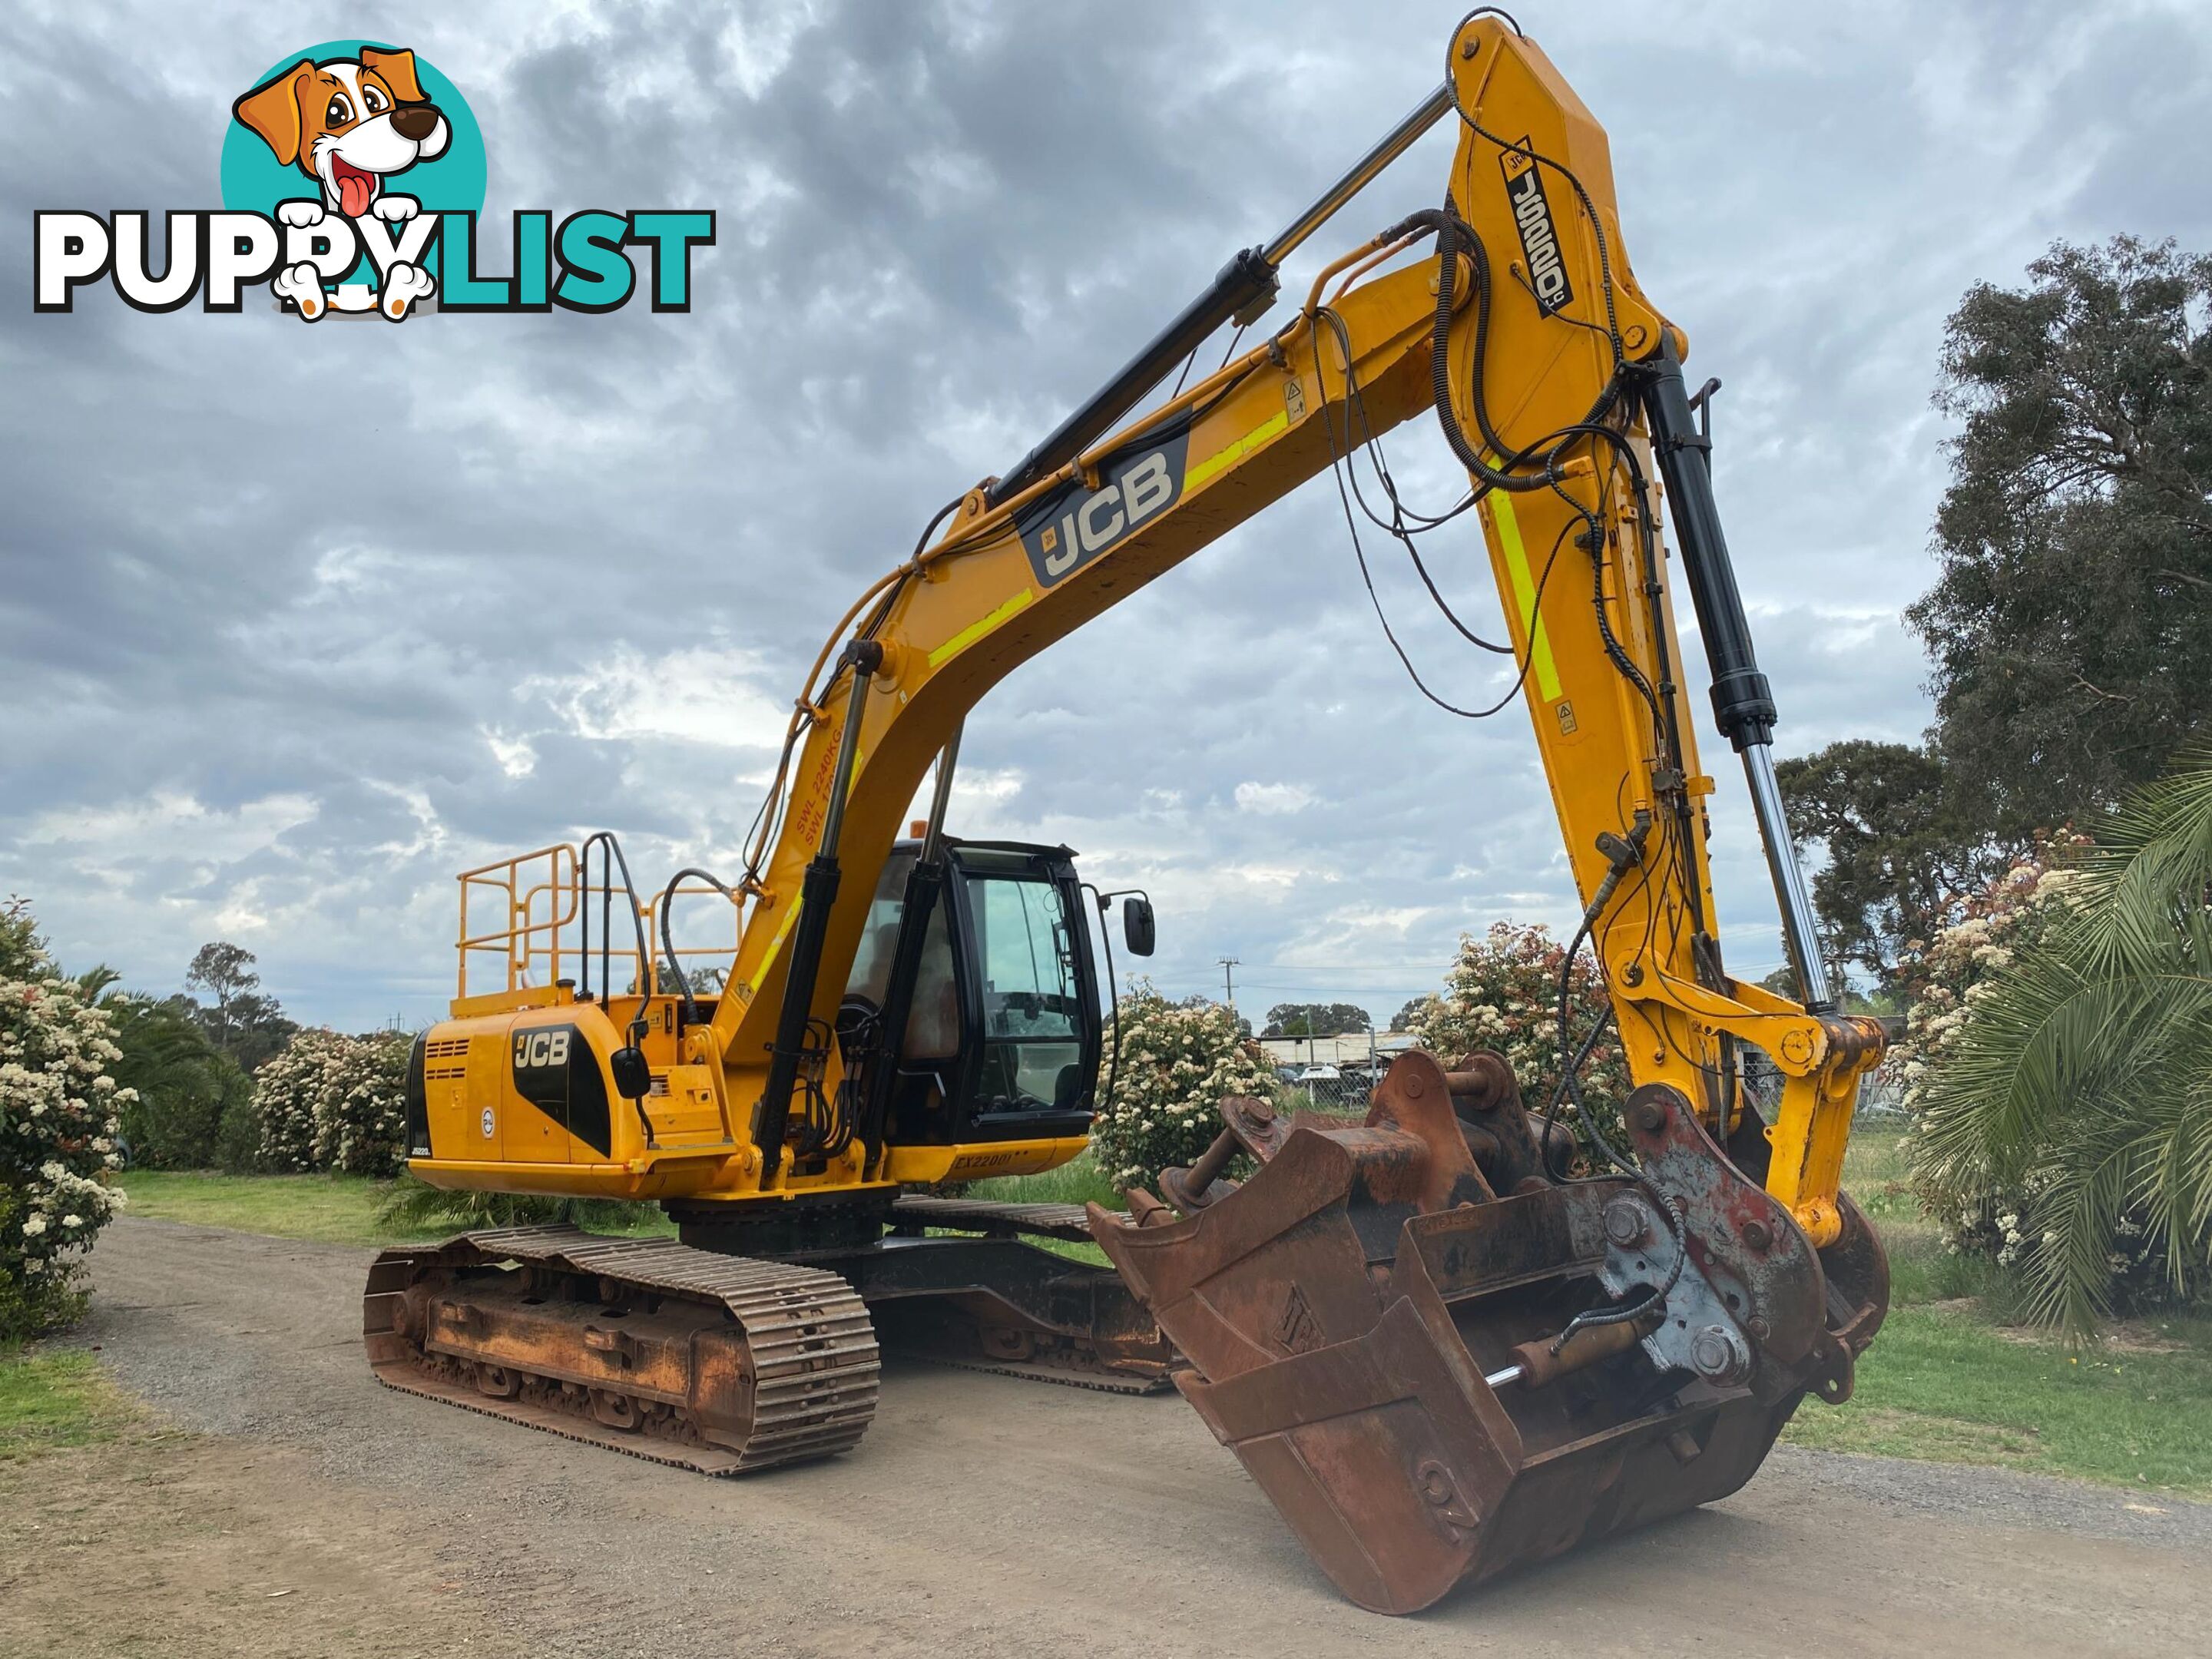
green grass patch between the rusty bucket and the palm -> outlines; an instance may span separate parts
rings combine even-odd
[[[2212,1321],[2130,1323],[2070,1349],[2004,1323],[1986,1263],[1944,1252],[1896,1130],[1854,1135],[1843,1183],[1889,1248],[1889,1318],[1851,1400],[1807,1400],[1785,1440],[2212,1495]]]

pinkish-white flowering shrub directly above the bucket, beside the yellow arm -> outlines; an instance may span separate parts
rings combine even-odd
[[[1566,949],[1544,925],[1491,922],[1480,938],[1460,933],[1460,953],[1444,973],[1444,993],[1427,998],[1409,1026],[1420,1046],[1447,1066],[1475,1048],[1489,1048],[1513,1066],[1522,1104],[1542,1113],[1559,1086],[1559,967]],[[1606,982],[1588,951],[1568,973],[1568,1035],[1582,1044],[1610,1006]],[[1621,1102],[1632,1088],[1619,1037],[1606,1031],[1590,1048],[1577,1077],[1582,1102],[1597,1115],[1599,1130],[1621,1144]],[[1575,1121],[1573,1102],[1562,1102],[1562,1121]]]

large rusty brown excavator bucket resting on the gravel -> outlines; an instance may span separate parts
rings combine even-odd
[[[1849,1199],[1816,1252],[1666,1084],[1628,1099],[1641,1179],[1555,1179],[1564,1135],[1498,1055],[1400,1055],[1360,1126],[1221,1115],[1168,1203],[1091,1232],[1183,1398],[1378,1613],[1736,1491],[1807,1389],[1849,1396],[1889,1305]]]

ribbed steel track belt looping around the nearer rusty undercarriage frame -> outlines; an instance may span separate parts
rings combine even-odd
[[[745,1444],[730,1449],[650,1438],[540,1400],[487,1398],[427,1365],[422,1349],[392,1329],[392,1303],[409,1285],[438,1270],[509,1261],[728,1310],[745,1334],[754,1376]],[[876,1413],[880,1374],[867,1307],[836,1274],[692,1250],[675,1239],[604,1239],[580,1228],[500,1228],[383,1252],[369,1267],[363,1340],[369,1367],[387,1387],[708,1475],[739,1475],[852,1449]]]

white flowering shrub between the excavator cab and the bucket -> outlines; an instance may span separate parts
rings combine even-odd
[[[1230,1095],[1274,1097],[1274,1073],[1221,1002],[1168,1002],[1150,980],[1121,998],[1121,1057],[1108,1064],[1091,1155],[1115,1190],[1152,1186],[1221,1133]]]

